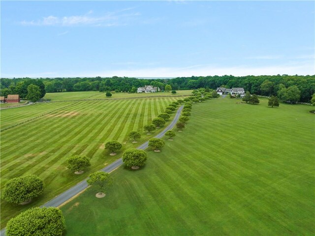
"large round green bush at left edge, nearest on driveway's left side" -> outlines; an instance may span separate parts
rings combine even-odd
[[[2,191],[2,199],[11,203],[22,203],[38,197],[45,184],[36,175],[29,174],[8,180]]]

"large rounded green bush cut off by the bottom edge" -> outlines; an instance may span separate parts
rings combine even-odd
[[[6,236],[62,236],[65,220],[60,209],[34,207],[10,219]]]

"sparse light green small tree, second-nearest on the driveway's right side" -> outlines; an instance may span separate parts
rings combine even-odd
[[[99,195],[106,194],[107,189],[113,184],[113,177],[104,171],[96,171],[89,175],[88,185],[91,185]]]

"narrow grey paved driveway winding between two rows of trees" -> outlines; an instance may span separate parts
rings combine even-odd
[[[183,110],[183,105],[177,110],[176,115],[174,117],[174,119],[172,120],[172,122],[162,131],[160,132],[158,135],[156,135],[155,137],[162,137],[166,131],[171,130],[176,122],[178,121],[180,115],[181,115],[181,111]],[[137,147],[138,149],[146,149],[148,147],[149,141],[146,141],[145,143],[143,143],[142,145],[140,145],[139,147]],[[114,169],[117,169],[118,167],[120,167],[123,164],[123,160],[122,158],[116,160],[115,162],[113,162],[112,164],[110,164],[109,166],[101,169],[101,171],[105,171],[105,172],[111,172]],[[62,205],[64,202],[68,201],[69,199],[73,198],[75,195],[81,193],[83,190],[85,190],[88,187],[87,181],[86,179],[83,180],[82,182],[78,183],[77,185],[73,186],[72,188],[68,189],[67,191],[63,192],[62,194],[60,194],[59,196],[57,196],[56,198],[50,200],[49,202],[46,202],[45,204],[41,205],[40,207],[43,206],[54,206],[54,207],[58,207],[60,205]],[[5,236],[5,229],[1,230],[0,232],[0,236]]]

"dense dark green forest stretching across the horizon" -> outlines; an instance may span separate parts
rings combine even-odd
[[[315,93],[315,75],[261,75],[261,76],[191,76],[173,79],[137,79],[128,77],[89,77],[89,78],[1,78],[1,96],[19,94],[25,99],[28,86],[35,84],[40,88],[40,97],[45,93],[71,91],[116,91],[135,93],[138,87],[144,85],[158,86],[161,90],[166,84],[174,90],[197,88],[216,89],[217,87],[243,87],[251,94],[271,96],[278,95],[281,89],[295,86],[300,93],[299,101],[309,102]],[[295,88],[295,91],[296,88]]]

